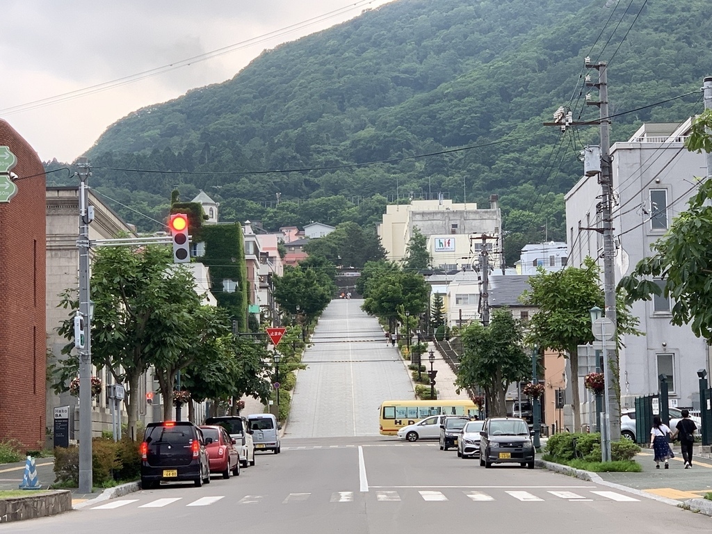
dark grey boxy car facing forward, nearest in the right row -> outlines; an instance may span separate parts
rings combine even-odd
[[[480,465],[521,464],[534,468],[534,445],[529,426],[519,417],[491,417],[480,432]]]

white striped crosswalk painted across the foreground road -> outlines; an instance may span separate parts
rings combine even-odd
[[[284,505],[293,503],[305,503],[306,501],[319,501],[327,497],[327,493],[320,493],[314,496],[312,493],[288,493],[286,497],[280,497]],[[265,501],[269,496],[266,495],[246,495],[237,501],[238,505],[258,505]],[[195,501],[184,499],[182,497],[172,498],[157,498],[154,501],[138,504],[137,508],[164,508],[166,506],[211,506],[218,503],[224,496],[201,497]],[[577,491],[561,491],[547,490],[545,488],[537,488],[536,490],[521,490],[511,489],[502,491],[481,491],[481,490],[462,490],[450,488],[449,491],[440,491],[437,489],[419,489],[417,491],[394,491],[379,489],[366,493],[354,491],[335,491],[328,496],[331,503],[353,503],[357,500],[372,500],[377,502],[400,502],[416,498],[426,502],[444,502],[444,501],[460,501],[463,498],[472,501],[473,503],[484,503],[490,501],[501,501],[514,498],[517,501],[524,503],[541,503],[545,501],[613,501],[616,503],[632,503],[639,502],[639,499],[634,498],[624,493],[616,491],[592,490],[587,488],[577,489]],[[130,506],[139,503],[140,499],[117,499],[109,503],[93,506],[90,510],[114,510],[124,506]],[[234,502],[234,501],[233,501]]]

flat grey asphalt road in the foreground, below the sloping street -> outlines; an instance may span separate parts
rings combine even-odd
[[[0,533],[293,534],[493,532],[669,534],[710,518],[604,484],[519,466],[485,469],[435,442],[385,437],[285,439],[279,455],[203,488],[164,485]]]

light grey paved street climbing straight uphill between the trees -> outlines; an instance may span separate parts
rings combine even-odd
[[[387,347],[363,300],[332,300],[305,352],[293,392],[286,436],[378,434],[378,409],[386,399],[412,399],[402,360]]]

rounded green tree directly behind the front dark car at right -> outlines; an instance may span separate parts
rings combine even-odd
[[[488,326],[471,323],[462,330],[461,340],[462,359],[456,385],[481,387],[491,416],[506,416],[505,397],[509,384],[531,372],[530,357],[523,350],[520,321],[508,310],[494,310]]]

